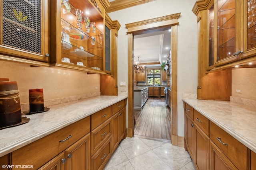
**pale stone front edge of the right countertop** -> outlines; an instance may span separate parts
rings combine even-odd
[[[196,99],[198,100],[198,99]],[[238,140],[240,143],[242,143],[243,145],[245,145],[246,147],[248,147],[250,150],[252,150],[253,152],[256,152],[256,143],[250,141],[249,139],[247,139],[244,135],[238,133],[237,131],[234,131],[232,128],[230,128],[228,125],[222,123],[221,121],[217,120],[215,117],[212,117],[211,115],[209,115],[208,113],[206,113],[205,111],[203,111],[202,109],[200,109],[199,107],[197,107],[194,103],[190,102],[189,100],[186,99],[182,99],[182,101],[186,102],[187,104],[189,104],[190,106],[192,106],[194,109],[196,109],[199,113],[201,113],[202,115],[204,115],[206,118],[208,118],[210,121],[212,121],[213,123],[215,123],[216,125],[218,125],[221,129],[223,129],[224,131],[226,131],[229,135],[231,135],[232,137],[234,137],[236,140]]]

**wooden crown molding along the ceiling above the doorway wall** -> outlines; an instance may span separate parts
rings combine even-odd
[[[132,6],[145,4],[147,2],[152,2],[155,0],[115,0],[113,2],[110,2],[110,7],[106,9],[107,13],[115,12],[118,10],[122,10],[125,8],[130,8]]]

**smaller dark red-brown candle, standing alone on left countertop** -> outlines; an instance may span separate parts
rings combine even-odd
[[[29,112],[44,111],[44,93],[43,89],[29,90]]]

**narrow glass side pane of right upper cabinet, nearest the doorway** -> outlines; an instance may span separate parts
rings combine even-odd
[[[214,64],[214,5],[209,9],[208,17],[208,27],[209,27],[209,44],[208,44],[208,69],[210,70]]]

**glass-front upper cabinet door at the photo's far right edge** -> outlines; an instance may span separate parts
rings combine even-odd
[[[251,57],[256,54],[256,0],[244,0],[244,30],[241,35],[243,45],[242,58]]]

